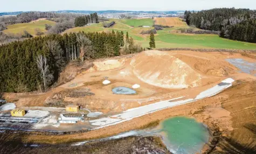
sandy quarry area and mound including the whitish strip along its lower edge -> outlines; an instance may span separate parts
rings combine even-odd
[[[102,128],[214,96],[239,79],[256,78],[239,72],[227,58],[255,63],[253,58],[239,53],[148,50],[94,61],[91,68],[46,93],[5,93],[4,97],[15,101],[17,108],[50,110],[50,116],[42,117],[46,122],[33,129]],[[120,92],[120,87],[135,93],[115,94],[113,89]],[[100,116],[72,126],[58,124],[59,112],[64,111],[61,107],[65,105],[79,105],[82,111]]]

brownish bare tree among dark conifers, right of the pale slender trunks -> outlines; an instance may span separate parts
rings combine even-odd
[[[92,41],[90,41],[84,34],[77,34],[77,41],[79,42],[80,48],[80,58],[84,61],[84,57],[86,59],[92,58],[94,55]]]

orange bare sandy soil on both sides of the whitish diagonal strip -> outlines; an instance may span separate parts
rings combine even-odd
[[[152,53],[152,52],[151,52]],[[240,53],[220,53],[220,52],[192,52],[192,51],[171,51],[161,52],[157,57],[151,57],[150,53],[140,53],[133,56],[125,56],[119,58],[109,59],[106,62],[94,62],[94,67],[79,74],[71,82],[61,85],[46,93],[28,94],[28,93],[6,93],[6,99],[18,100],[16,105],[21,106],[44,106],[49,100],[52,100],[56,94],[60,94],[61,100],[72,104],[80,104],[84,108],[88,108],[93,112],[103,112],[104,114],[113,114],[125,111],[130,108],[140,107],[144,105],[153,104],[154,102],[168,100],[170,98],[177,98],[181,96],[196,97],[200,92],[209,89],[216,85],[221,80],[230,77],[236,80],[234,85],[224,92],[198,100],[190,104],[176,106],[172,108],[163,109],[155,113],[143,115],[130,121],[109,126],[99,130],[92,130],[87,133],[65,135],[65,136],[38,136],[29,135],[24,141],[34,141],[38,143],[57,143],[57,142],[71,142],[79,140],[87,140],[91,138],[111,136],[122,133],[124,131],[139,129],[145,124],[169,118],[170,116],[185,115],[192,116],[200,122],[204,122],[210,130],[218,128],[224,136],[233,137],[234,140],[241,142],[241,144],[255,145],[255,138],[250,133],[250,129],[244,126],[247,124],[255,124],[255,97],[256,97],[256,77],[245,73],[238,72],[239,69],[228,63],[226,58],[243,58],[246,61],[255,63],[256,60],[250,57],[242,56]],[[154,54],[155,55],[155,54]],[[153,56],[154,56],[153,55]],[[156,54],[157,55],[157,54]],[[140,63],[143,58],[150,58],[154,61],[148,65]],[[170,57],[170,61],[165,58]],[[166,84],[160,81],[158,85],[148,84],[143,80],[143,76],[149,74],[151,71],[160,71],[164,75],[166,71],[165,65],[172,65],[177,58],[179,62],[185,63],[185,67],[192,71],[192,74],[200,76],[197,86],[188,86],[186,89],[166,88],[162,85]],[[168,58],[167,58],[168,59]],[[116,61],[116,62],[113,62]],[[137,61],[136,61],[137,60]],[[165,60],[165,65],[161,64]],[[133,61],[133,62],[132,62]],[[131,64],[132,63],[132,64]],[[154,65],[155,63],[155,65]],[[159,64],[161,67],[158,67]],[[184,66],[184,65],[183,65]],[[100,69],[99,69],[100,68]],[[137,73],[134,73],[136,72]],[[139,72],[138,72],[139,71]],[[170,74],[171,74],[170,70]],[[122,73],[120,73],[122,72]],[[175,71],[175,75],[184,75],[183,71]],[[158,75],[157,77],[159,77]],[[102,81],[107,77],[111,81],[109,85],[103,85]],[[156,78],[157,78],[156,77]],[[183,84],[191,85],[195,78],[192,76],[184,79]],[[198,80],[198,78],[196,78]],[[157,80],[154,80],[157,82]],[[169,81],[170,83],[175,83]],[[134,84],[139,84],[141,87],[136,89],[137,94],[130,96],[115,95],[112,93],[113,87],[126,86],[132,88]],[[75,85],[75,86],[74,86]],[[90,89],[93,96],[75,97],[69,93],[72,90]],[[241,105],[243,103],[243,105]],[[246,126],[247,126],[246,125]],[[251,127],[251,125],[250,125]],[[239,131],[243,131],[240,134]],[[248,136],[247,139],[245,136]],[[223,144],[218,145],[224,146]],[[247,146],[247,145],[246,145]],[[249,145],[248,145],[249,146]],[[207,148],[206,148],[207,149]],[[218,148],[216,148],[218,149]]]

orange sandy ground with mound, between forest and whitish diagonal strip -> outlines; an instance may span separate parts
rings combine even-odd
[[[94,67],[82,72],[71,82],[54,88],[49,92],[38,94],[6,93],[4,96],[10,102],[18,100],[16,101],[17,107],[45,106],[47,102],[61,100],[67,104],[80,105],[93,112],[117,113],[129,108],[175,97],[195,97],[201,91],[209,89],[238,70],[226,62],[224,58],[239,55],[230,55],[229,53],[226,56],[220,53],[189,51],[154,54],[155,52],[144,52],[135,56],[96,61],[94,62]],[[172,61],[168,61],[169,58]],[[143,59],[145,61],[149,59],[151,63],[149,63],[150,61],[141,63]],[[154,65],[154,63],[158,64]],[[167,69],[165,65],[170,65],[175,69],[171,69],[171,67]],[[181,70],[187,70],[188,72],[178,71],[177,68],[179,67],[184,67],[185,69]],[[102,84],[105,77],[110,80],[111,84]],[[179,78],[181,79],[179,80]],[[134,84],[140,85],[140,88],[136,89],[137,94],[124,96],[112,93],[114,87],[126,86],[132,88]],[[188,89],[184,89],[184,87],[188,87]],[[90,92],[94,93],[94,95],[75,97],[67,96],[65,93],[66,90],[85,89],[91,90]],[[56,94],[60,94],[61,99],[53,100]]]

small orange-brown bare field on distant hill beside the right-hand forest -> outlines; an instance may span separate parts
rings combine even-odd
[[[163,26],[186,26],[186,23],[178,17],[154,18],[156,25]]]

